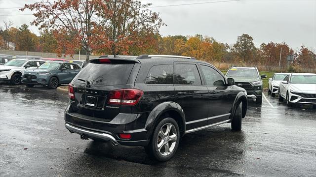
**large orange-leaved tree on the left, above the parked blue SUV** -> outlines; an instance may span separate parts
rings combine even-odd
[[[93,48],[93,29],[101,25],[100,13],[108,13],[105,0],[42,0],[25,4],[20,10],[36,11],[36,19],[31,23],[39,29],[50,29],[57,39],[57,52],[73,55],[77,48],[86,51],[89,59]]]

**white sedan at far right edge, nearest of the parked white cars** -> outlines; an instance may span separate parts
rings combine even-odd
[[[278,98],[286,104],[306,103],[316,108],[316,74],[293,73],[287,75],[279,85]]]

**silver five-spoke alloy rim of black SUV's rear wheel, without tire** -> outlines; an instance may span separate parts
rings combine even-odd
[[[164,124],[158,133],[157,148],[161,155],[169,155],[175,148],[177,142],[177,131],[173,124]]]

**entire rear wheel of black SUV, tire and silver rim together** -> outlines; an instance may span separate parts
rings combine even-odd
[[[145,147],[148,155],[160,162],[167,161],[175,154],[180,142],[180,130],[173,118],[164,118],[154,129],[152,139]]]

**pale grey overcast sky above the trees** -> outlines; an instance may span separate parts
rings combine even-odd
[[[3,20],[8,19],[13,21],[14,27],[24,23],[30,25],[34,17],[20,14],[31,12],[21,12],[13,7],[23,7],[25,3],[36,1],[0,0],[0,26],[3,27]],[[257,47],[261,43],[284,41],[294,50],[305,45],[316,52],[316,0],[141,1],[153,3],[151,10],[159,12],[167,25],[160,29],[163,36],[198,33],[214,37],[219,42],[233,44],[238,35],[247,33],[254,38]],[[38,34],[36,27],[30,29]]]

